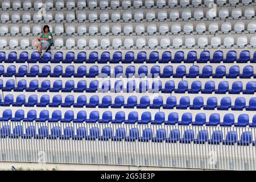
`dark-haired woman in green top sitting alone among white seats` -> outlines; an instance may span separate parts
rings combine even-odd
[[[40,35],[39,42],[38,42],[38,52],[40,56],[42,54],[42,49],[47,49],[52,44],[52,32],[49,30],[49,26],[45,25],[43,28],[43,32]]]

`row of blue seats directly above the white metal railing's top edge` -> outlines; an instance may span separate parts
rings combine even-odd
[[[61,116],[61,110],[52,111],[51,117],[49,117],[48,110],[40,111],[39,118],[36,116],[36,110],[29,110],[27,112],[27,118],[25,117],[24,110],[18,109],[15,111],[15,117],[13,118],[13,113],[11,109],[6,109],[3,111],[2,118],[0,121],[23,121],[23,122],[73,122],[73,123],[125,123],[125,124],[148,124],[151,125],[195,125],[195,126],[236,126],[245,127],[249,125],[250,127],[256,127],[256,115],[254,115],[252,122],[249,121],[248,114],[240,114],[238,116],[237,122],[235,122],[234,114],[228,113],[224,115],[223,122],[221,122],[220,114],[213,113],[209,116],[207,121],[205,113],[197,113],[195,116],[195,121],[193,121],[192,113],[183,113],[181,119],[179,119],[179,114],[176,112],[171,112],[168,114],[168,119],[166,121],[166,115],[162,111],[158,111],[155,114],[155,118],[152,119],[150,111],[144,111],[141,114],[141,119],[137,111],[131,111],[126,119],[125,111],[117,111],[115,113],[115,118],[112,117],[112,111],[104,111],[100,119],[99,111],[91,111],[89,118],[87,117],[86,111],[81,110],[77,113],[76,118],[73,110],[65,111],[64,118]]]

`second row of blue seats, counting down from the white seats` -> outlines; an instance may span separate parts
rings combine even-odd
[[[77,68],[75,73],[75,67],[73,65],[69,65],[63,71],[63,67],[61,65],[56,65],[53,68],[53,72],[51,72],[50,65],[44,65],[42,67],[42,71],[39,72],[39,66],[33,65],[30,68],[30,72],[28,72],[27,65],[21,65],[18,68],[18,72],[16,71],[15,65],[9,65],[6,71],[3,65],[0,66],[0,75],[3,77],[160,77],[160,78],[256,78],[254,74],[254,67],[251,65],[247,65],[243,67],[242,73],[240,73],[240,67],[238,65],[233,65],[229,69],[229,73],[226,72],[225,65],[220,65],[216,68],[215,73],[213,74],[213,68],[210,65],[206,65],[200,71],[198,65],[193,65],[189,67],[189,71],[185,65],[179,65],[176,68],[176,72],[174,72],[173,67],[171,65],[165,66],[163,71],[160,70],[158,65],[154,65],[150,69],[150,73],[148,73],[148,68],[146,65],[142,65],[136,71],[135,66],[130,65],[126,67],[125,73],[123,72],[123,67],[121,65],[115,66],[113,68],[113,72],[111,71],[111,67],[109,65],[105,65],[101,68],[101,72],[98,70],[97,65],[93,65],[89,68],[89,73],[86,72],[86,66],[81,65]]]

